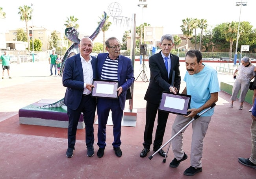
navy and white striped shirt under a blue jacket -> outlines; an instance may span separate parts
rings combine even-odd
[[[109,57],[107,57],[102,66],[100,79],[118,81],[117,68],[118,68],[118,58],[115,60],[111,60],[109,59]]]

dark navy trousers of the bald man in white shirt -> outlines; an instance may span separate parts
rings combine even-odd
[[[96,111],[96,98],[91,98],[90,95],[83,96],[81,103],[76,110],[67,108],[69,116],[68,128],[68,147],[75,148],[76,143],[76,129],[81,113],[83,113],[83,121],[85,123],[85,143],[86,146],[93,146],[94,143],[94,119]]]

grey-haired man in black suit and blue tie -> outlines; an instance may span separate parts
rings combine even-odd
[[[176,94],[180,90],[180,70],[179,57],[171,54],[174,46],[173,36],[163,35],[160,40],[161,51],[149,58],[150,82],[144,100],[147,101],[146,125],[144,131],[143,150],[140,157],[146,157],[152,144],[152,133],[156,113],[158,112],[158,125],[153,143],[153,150],[157,151],[163,143],[163,135],[169,113],[158,111],[161,95],[163,91],[170,91]],[[175,71],[175,74],[173,73]],[[173,76],[174,75],[174,76]],[[173,79],[173,81],[172,81]],[[172,82],[174,82],[172,85]],[[158,152],[165,157],[165,152],[161,149]]]

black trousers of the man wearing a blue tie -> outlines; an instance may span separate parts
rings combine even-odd
[[[158,111],[158,105],[147,102],[146,107],[146,125],[144,131],[144,142],[143,146],[145,148],[150,148],[152,144],[152,133],[154,128],[154,122],[156,119],[156,113]],[[156,127],[156,137],[154,140],[154,149],[159,149],[163,144],[163,135],[165,133],[165,127],[167,123],[169,113],[158,111],[158,125]]]

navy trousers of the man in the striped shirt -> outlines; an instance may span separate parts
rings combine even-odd
[[[119,101],[115,99],[97,99],[97,114],[98,114],[98,146],[104,148],[106,144],[106,124],[108,122],[109,112],[112,113],[113,122],[113,147],[121,145],[121,123],[123,111],[120,108]]]

